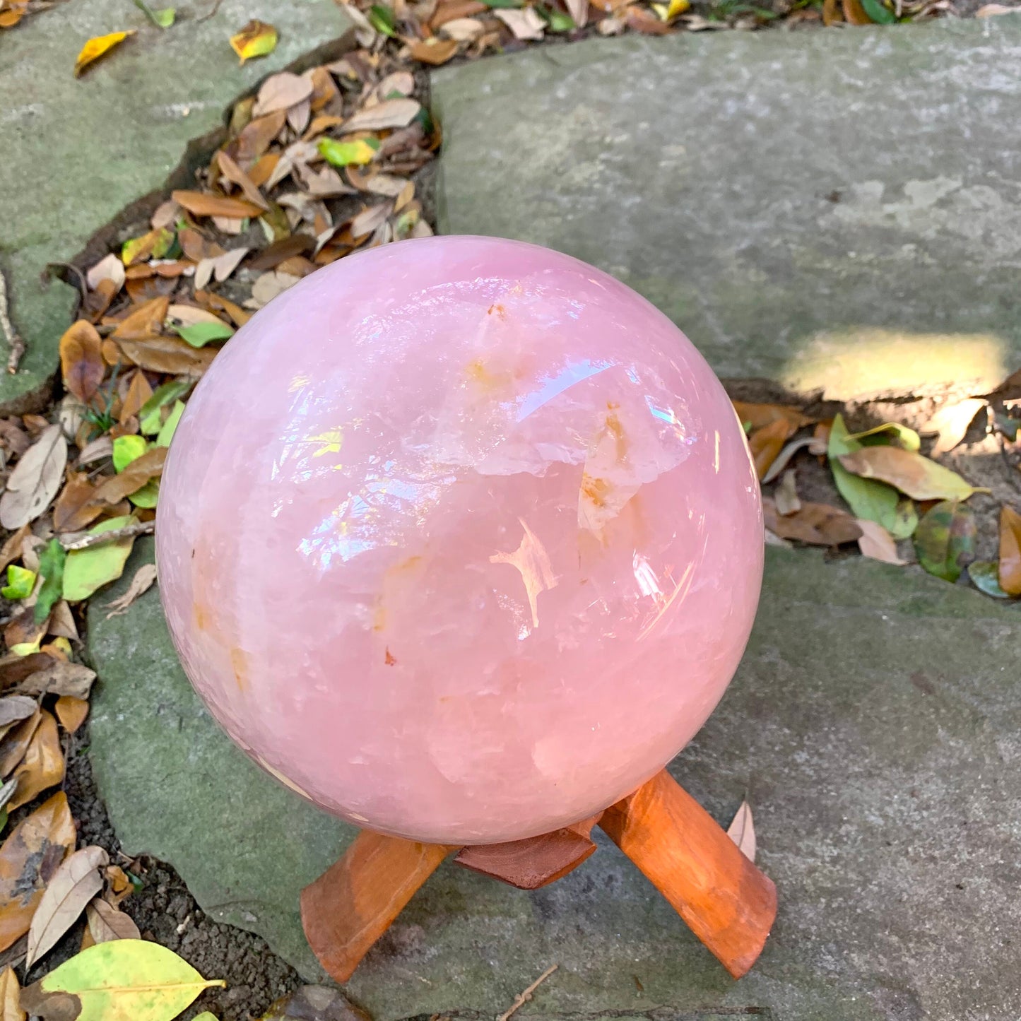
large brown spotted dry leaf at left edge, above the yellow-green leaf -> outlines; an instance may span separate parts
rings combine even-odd
[[[21,938],[32,924],[46,884],[78,838],[58,791],[14,827],[0,846],[0,951]]]

